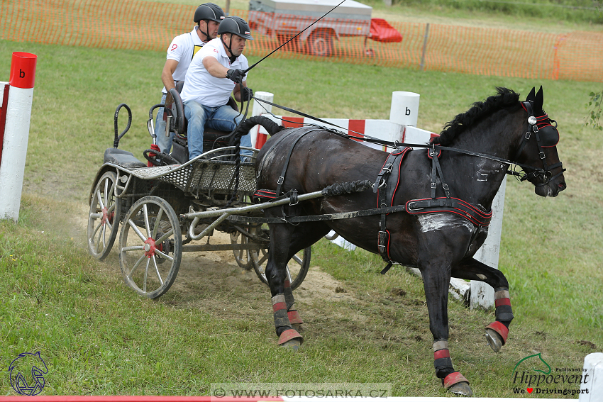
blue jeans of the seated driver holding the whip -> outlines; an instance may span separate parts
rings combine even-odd
[[[230,132],[243,119],[243,114],[239,114],[231,106],[209,107],[196,101],[184,102],[184,116],[187,116],[189,121],[187,129],[189,160],[203,153],[203,132],[206,124],[213,130]],[[240,145],[251,147],[251,135],[249,133],[240,138]],[[250,150],[240,151],[241,156],[252,154],[253,152]]]

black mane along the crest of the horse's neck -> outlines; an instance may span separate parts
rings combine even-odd
[[[431,139],[431,143],[450,145],[453,140],[471,125],[477,123],[502,108],[519,107],[519,94],[511,89],[497,86],[497,94],[489,96],[485,101],[475,102],[465,113],[460,113],[452,121],[444,125],[439,137]]]

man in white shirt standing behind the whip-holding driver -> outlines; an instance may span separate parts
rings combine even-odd
[[[167,60],[161,72],[161,81],[164,84],[161,104],[165,104],[167,92],[175,87],[176,82],[184,80],[194,55],[205,43],[216,38],[218,27],[224,18],[224,11],[220,6],[214,3],[201,4],[195,10],[193,17],[197,26],[191,32],[178,35],[172,40],[170,47],[167,48]],[[165,135],[163,108],[157,111],[155,133],[161,151],[170,153],[173,133],[169,137]]]

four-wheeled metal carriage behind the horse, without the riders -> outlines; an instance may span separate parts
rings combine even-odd
[[[132,115],[126,104],[116,109],[114,147],[104,152],[89,195],[90,255],[105,259],[117,240],[124,281],[148,298],[158,298],[170,289],[182,252],[232,250],[241,268],[254,269],[267,284],[265,264],[270,235],[265,225],[253,221],[262,216],[262,206],[253,203],[253,162],[259,150],[242,147],[253,155],[250,161],[240,162],[239,147],[228,145],[229,133],[208,129],[204,134],[204,153],[188,160],[182,101],[177,92],[172,98],[175,101],[168,110],[173,109],[174,113],[168,113],[167,127],[175,133],[174,152],[157,155],[153,149],[145,150],[143,156],[150,163],[118,148],[119,140],[131,126]],[[149,111],[148,131],[154,143],[153,111],[164,106],[154,105]],[[236,108],[236,104],[231,106]],[[122,108],[128,112],[128,124],[118,135]],[[228,212],[230,219],[221,217],[223,211]],[[237,220],[232,216],[235,212],[239,213]],[[206,215],[197,216],[199,213]],[[214,230],[226,233],[230,244],[216,244]],[[293,288],[306,277],[310,255],[311,248],[307,247],[289,262],[288,277]]]

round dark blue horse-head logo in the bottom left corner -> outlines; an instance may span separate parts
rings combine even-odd
[[[9,366],[11,386],[19,395],[33,396],[42,392],[45,385],[44,374],[48,374],[48,367],[40,352],[21,353]]]

